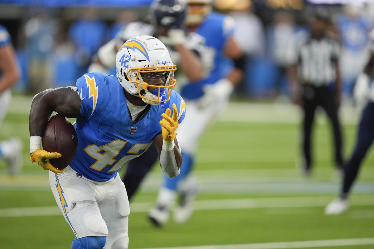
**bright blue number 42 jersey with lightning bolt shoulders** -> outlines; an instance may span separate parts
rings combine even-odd
[[[82,106],[74,125],[78,136],[77,153],[70,166],[94,181],[107,181],[133,158],[140,156],[161,133],[161,114],[175,103],[181,122],[186,106],[181,96],[171,92],[166,107],[151,105],[137,123],[129,117],[123,87],[114,75],[93,72],[77,80]]]

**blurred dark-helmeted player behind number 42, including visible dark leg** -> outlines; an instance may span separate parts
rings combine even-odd
[[[170,11],[172,10],[172,11]],[[154,35],[168,47],[173,62],[179,66],[175,77],[178,84],[183,81],[197,81],[203,76],[203,66],[199,57],[203,54],[205,39],[194,32],[186,31],[187,6],[185,0],[157,0],[148,13],[150,23],[131,22],[117,36],[102,46],[89,67],[89,72],[108,72],[115,64],[118,48],[131,37]],[[154,144],[144,152],[144,156],[128,163],[122,180],[129,200],[139,187],[141,180],[157,161]]]

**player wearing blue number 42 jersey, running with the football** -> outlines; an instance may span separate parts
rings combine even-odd
[[[116,54],[117,76],[92,72],[76,87],[47,89],[31,104],[30,158],[49,170],[52,193],[76,238],[72,249],[128,248],[129,201],[119,169],[154,143],[167,177],[180,173],[182,156],[175,130],[185,104],[176,84],[170,53],[157,38],[141,35]],[[57,152],[40,149],[53,111],[76,117],[78,149],[58,170]]]

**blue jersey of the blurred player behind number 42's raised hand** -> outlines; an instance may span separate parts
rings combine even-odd
[[[211,12],[195,31],[205,38],[205,51],[201,61],[207,68],[205,77],[197,82],[186,84],[181,91],[185,99],[197,99],[203,96],[203,86],[214,84],[227,74],[227,57],[223,54],[224,45],[234,32],[234,21],[231,17]]]

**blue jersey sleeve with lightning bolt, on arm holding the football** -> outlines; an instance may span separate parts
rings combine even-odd
[[[77,80],[77,91],[82,102],[80,114],[91,118],[102,109],[109,98],[108,84],[105,77],[98,74],[87,73]]]

